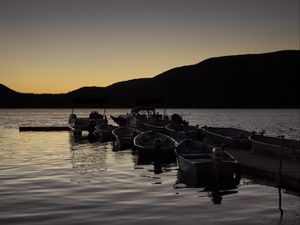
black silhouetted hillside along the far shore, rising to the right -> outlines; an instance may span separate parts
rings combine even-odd
[[[19,93],[0,84],[0,108],[95,107],[74,104],[79,97],[105,99],[107,108],[130,108],[141,98],[164,99],[158,107],[167,108],[299,108],[299,74],[299,50],[224,56],[65,94]]]

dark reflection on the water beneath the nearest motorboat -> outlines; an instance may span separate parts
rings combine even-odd
[[[240,176],[219,180],[213,177],[189,176],[179,169],[175,188],[178,188],[179,184],[184,184],[184,188],[202,188],[200,192],[207,193],[213,204],[221,204],[223,196],[238,193],[240,180]]]

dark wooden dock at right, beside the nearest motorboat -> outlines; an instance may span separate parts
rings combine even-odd
[[[243,174],[267,180],[275,187],[280,186],[300,193],[299,161],[283,158],[281,176],[279,176],[279,157],[257,154],[242,149],[226,149],[226,151],[239,161]]]

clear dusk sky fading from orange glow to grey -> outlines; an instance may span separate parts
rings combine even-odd
[[[0,0],[0,83],[65,93],[299,49],[299,0]]]

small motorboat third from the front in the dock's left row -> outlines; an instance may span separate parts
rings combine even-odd
[[[138,134],[138,131],[132,127],[120,126],[112,131],[115,136],[116,149],[128,149],[133,146],[133,139]]]

